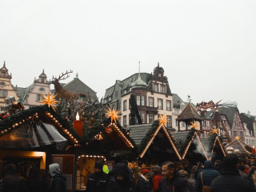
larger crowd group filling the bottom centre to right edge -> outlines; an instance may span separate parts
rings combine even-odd
[[[239,163],[235,154],[228,154],[223,161],[206,161],[195,166],[164,162],[162,166],[155,165],[148,169],[137,166],[133,170],[128,167],[128,162],[122,161],[109,174],[95,169],[95,173],[90,175],[86,192],[256,191],[255,164]]]

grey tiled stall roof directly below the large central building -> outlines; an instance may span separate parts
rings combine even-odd
[[[142,139],[145,138],[147,132],[150,130],[152,124],[142,124],[135,126],[128,126],[130,128],[130,138],[134,140],[136,145],[140,145]]]

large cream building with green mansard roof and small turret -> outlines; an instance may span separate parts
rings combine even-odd
[[[134,94],[142,123],[153,123],[159,114],[166,114],[167,127],[172,126],[172,102],[169,82],[162,67],[156,66],[153,74],[138,73],[106,90],[104,102],[121,110],[121,125],[130,125],[130,95]]]

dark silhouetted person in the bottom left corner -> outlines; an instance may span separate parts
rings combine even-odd
[[[3,168],[0,192],[27,192],[26,182],[16,174],[16,166],[9,164]]]

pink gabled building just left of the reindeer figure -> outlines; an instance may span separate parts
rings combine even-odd
[[[25,108],[41,106],[41,94],[47,95],[48,93],[50,93],[50,82],[47,80],[44,70],[42,70],[42,74],[38,78],[34,78],[34,82],[26,89],[18,87],[18,96],[22,99]]]

